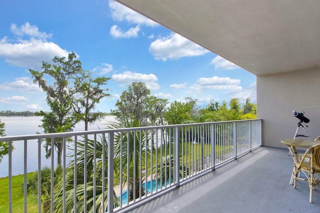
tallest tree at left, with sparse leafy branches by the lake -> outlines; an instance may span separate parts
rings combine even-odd
[[[44,133],[70,132],[78,122],[77,116],[73,113],[72,101],[74,90],[72,89],[72,78],[81,75],[81,62],[76,60],[74,52],[69,53],[68,57],[54,56],[53,63],[42,62],[43,71],[29,69],[33,82],[38,83],[39,87],[46,93],[46,103],[50,112],[40,111]],[[51,150],[57,151],[57,164],[61,165],[63,150],[62,138],[54,140],[54,147],[48,139],[44,145],[46,157],[51,156]],[[52,150],[53,151],[53,150]]]

